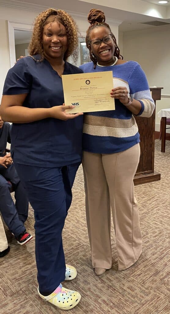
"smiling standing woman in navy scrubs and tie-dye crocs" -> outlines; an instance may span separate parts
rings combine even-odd
[[[27,189],[35,216],[38,293],[61,309],[71,309],[80,294],[62,287],[76,277],[65,265],[62,230],[72,200],[71,188],[82,157],[82,114],[62,106],[62,74],[82,73],[66,62],[78,43],[74,20],[48,9],[35,20],[30,55],[8,71],[1,103],[4,121],[13,122],[11,154]]]

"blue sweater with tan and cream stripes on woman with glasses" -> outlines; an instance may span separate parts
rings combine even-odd
[[[150,117],[155,108],[145,73],[134,61],[108,67],[93,62],[80,66],[84,73],[113,71],[114,87],[126,87],[132,98],[142,104],[138,116]],[[83,150],[112,154],[126,150],[140,142],[137,123],[128,107],[115,99],[115,110],[84,114]]]

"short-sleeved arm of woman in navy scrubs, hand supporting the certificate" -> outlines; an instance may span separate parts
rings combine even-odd
[[[31,82],[32,77],[28,73],[24,58],[22,58],[8,71],[5,80],[0,106],[0,114],[3,121],[28,123],[45,118],[67,121],[83,114],[66,113],[66,109],[73,109],[74,106],[61,105],[51,108],[28,108],[23,106],[23,102],[29,93]]]

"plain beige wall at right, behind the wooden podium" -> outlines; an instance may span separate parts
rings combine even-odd
[[[157,101],[156,130],[160,118],[157,112],[170,108],[170,25],[147,30],[124,32],[123,56],[125,60],[140,63],[145,71],[149,86],[163,87],[164,97]]]

